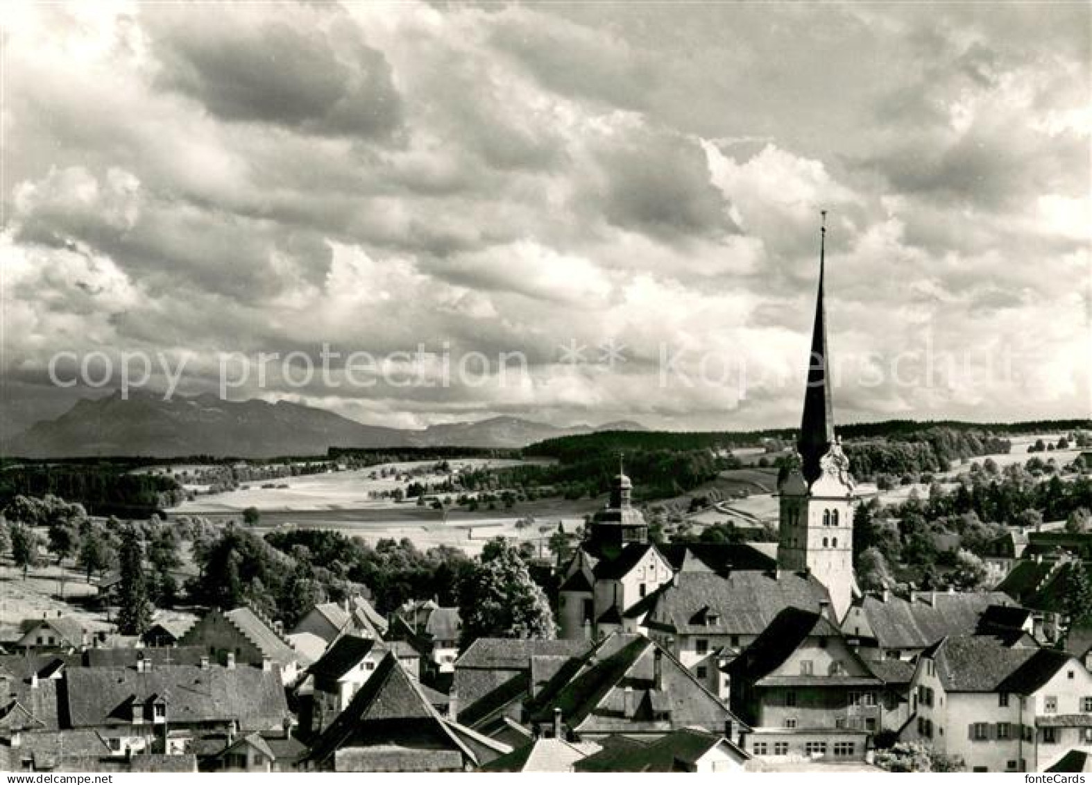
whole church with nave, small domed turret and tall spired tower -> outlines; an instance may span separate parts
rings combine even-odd
[[[619,473],[565,569],[558,600],[562,638],[642,631],[662,637],[689,666],[703,654],[746,646],[786,607],[822,612],[836,625],[859,595],[853,574],[853,478],[834,433],[827,373],[826,235],[823,226],[797,451],[778,484],[776,558],[747,543],[650,543],[644,516],[632,506],[632,483]],[[715,663],[697,668],[717,670]]]

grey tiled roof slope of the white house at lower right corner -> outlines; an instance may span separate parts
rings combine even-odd
[[[937,678],[948,692],[996,692],[1037,651],[1009,649],[989,635],[952,635],[922,657],[936,662]]]

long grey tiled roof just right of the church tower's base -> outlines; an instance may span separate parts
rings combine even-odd
[[[925,649],[945,635],[971,634],[989,606],[1012,604],[1001,592],[936,592],[913,600],[869,594],[859,608],[881,647]]]

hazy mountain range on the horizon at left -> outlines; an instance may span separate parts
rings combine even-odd
[[[188,455],[274,457],[323,455],[328,448],[522,448],[535,441],[598,430],[638,430],[637,423],[558,428],[518,417],[407,430],[368,426],[325,409],[280,401],[222,401],[215,395],[130,393],[84,399],[56,419],[7,440],[22,457]]]

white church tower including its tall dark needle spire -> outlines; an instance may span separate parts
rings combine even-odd
[[[778,567],[808,570],[830,593],[841,621],[853,602],[853,477],[850,461],[834,436],[827,353],[823,267],[827,212],[819,242],[819,294],[811,330],[811,356],[797,455],[778,484],[780,528]]]

